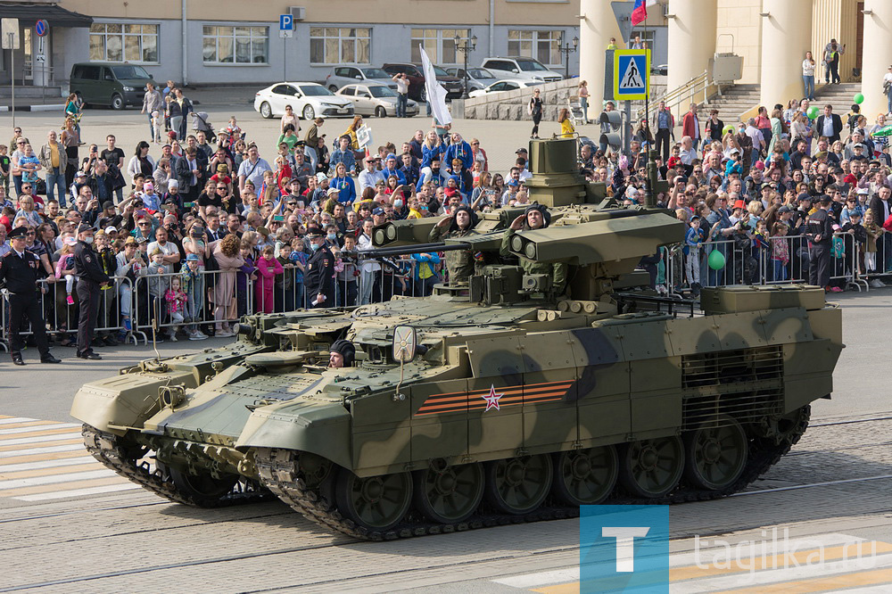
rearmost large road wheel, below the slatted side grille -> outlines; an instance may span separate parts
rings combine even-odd
[[[683,441],[684,476],[700,489],[730,487],[747,466],[747,433],[731,417],[685,433]]]

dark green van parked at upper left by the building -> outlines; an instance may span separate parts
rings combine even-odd
[[[134,64],[81,62],[71,66],[70,92],[85,104],[109,105],[113,110],[141,106],[148,83],[160,89],[142,66]]]

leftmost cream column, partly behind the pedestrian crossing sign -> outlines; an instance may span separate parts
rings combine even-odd
[[[579,79],[589,83],[589,120],[598,118],[604,102],[604,60],[610,37],[625,47],[610,0],[579,0]],[[613,84],[613,81],[610,81]]]

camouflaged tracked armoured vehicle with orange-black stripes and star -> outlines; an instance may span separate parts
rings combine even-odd
[[[174,501],[275,495],[372,540],[741,491],[830,395],[841,312],[809,286],[706,288],[700,311],[641,290],[640,259],[684,228],[606,198],[575,143],[531,142],[547,227],[498,210],[442,243],[437,219],[376,229],[376,256],[475,254],[467,283],[248,316],[226,347],[91,382],[72,407],[87,450]],[[355,362],[328,367],[345,339]]]

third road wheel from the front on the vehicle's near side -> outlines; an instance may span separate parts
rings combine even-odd
[[[523,516],[539,507],[551,488],[553,466],[547,455],[487,462],[486,499],[506,514]]]

